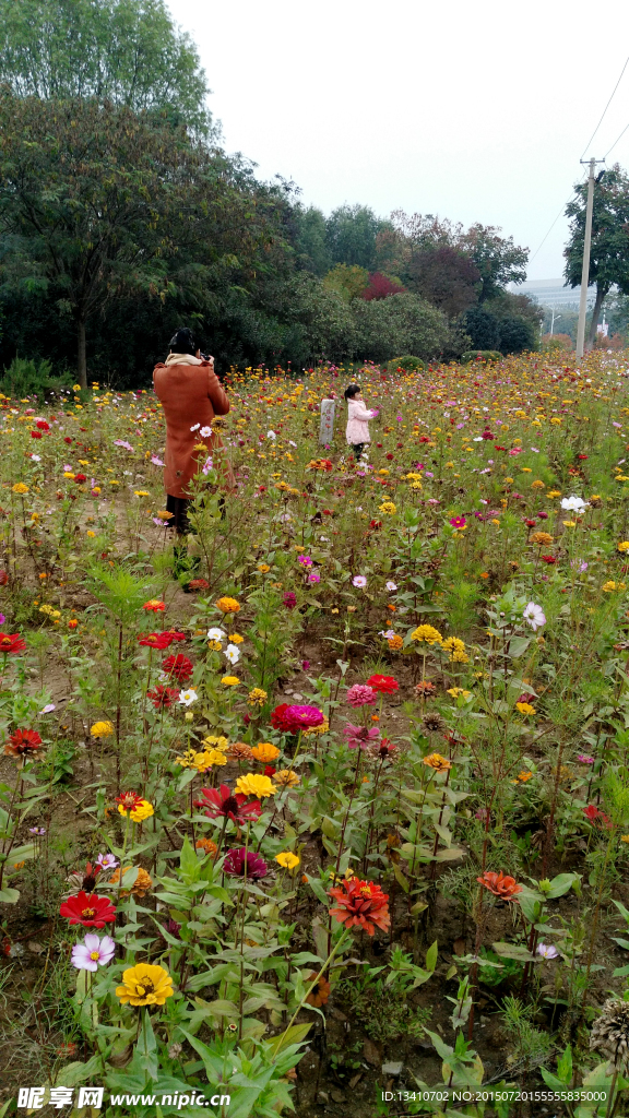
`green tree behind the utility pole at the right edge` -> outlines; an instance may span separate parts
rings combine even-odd
[[[571,224],[570,240],[564,249],[564,276],[571,287],[581,284],[588,183],[579,183],[574,192],[576,198],[565,208]],[[597,285],[588,339],[592,345],[605,295],[614,285],[622,294],[629,294],[629,179],[618,163],[594,186],[588,283]]]

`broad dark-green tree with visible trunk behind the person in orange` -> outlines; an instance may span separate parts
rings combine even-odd
[[[208,272],[246,259],[257,222],[246,172],[184,127],[95,101],[0,96],[4,277],[72,314],[83,386],[92,316],[132,293],[203,303]]]

